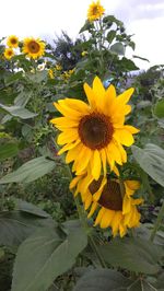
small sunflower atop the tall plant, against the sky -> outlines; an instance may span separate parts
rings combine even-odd
[[[87,10],[87,20],[94,21],[101,19],[105,9],[101,5],[99,1],[92,2]]]

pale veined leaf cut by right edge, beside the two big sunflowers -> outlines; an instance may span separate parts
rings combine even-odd
[[[131,150],[139,165],[164,187],[164,150],[153,143],[148,143],[144,149],[132,146]]]

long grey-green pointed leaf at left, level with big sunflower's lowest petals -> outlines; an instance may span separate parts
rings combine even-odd
[[[26,162],[16,171],[3,176],[0,179],[0,184],[8,184],[13,182],[30,183],[51,172],[54,167],[54,161],[48,160],[45,156],[39,156]]]

